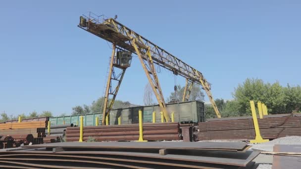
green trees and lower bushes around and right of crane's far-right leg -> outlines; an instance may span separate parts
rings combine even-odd
[[[270,84],[260,79],[247,79],[243,84],[238,84],[232,96],[232,101],[215,100],[222,117],[251,116],[250,100],[263,102],[269,114],[301,112],[300,85],[282,86],[279,82]],[[205,113],[206,118],[216,117],[211,105],[205,105]]]

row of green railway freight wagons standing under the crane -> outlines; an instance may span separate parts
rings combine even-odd
[[[166,104],[167,112],[171,117],[171,112],[174,112],[174,121],[180,123],[198,123],[204,122],[204,103],[201,101],[188,101],[181,103]],[[118,125],[118,118],[121,117],[121,124],[138,124],[139,110],[143,112],[143,122],[152,123],[152,112],[155,112],[156,123],[161,123],[159,105],[152,106],[137,106],[124,109],[113,109],[109,115],[109,124]],[[63,123],[79,125],[80,116],[84,117],[84,126],[95,126],[96,117],[99,117],[101,122],[102,114],[85,114],[50,118],[51,125],[61,125]],[[101,123],[100,123],[101,124]]]

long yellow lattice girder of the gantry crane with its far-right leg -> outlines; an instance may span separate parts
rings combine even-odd
[[[201,72],[113,18],[102,21],[86,16],[83,16],[83,18],[86,19],[86,22],[84,24],[80,24],[80,28],[108,42],[112,42],[120,48],[137,54],[137,51],[132,43],[132,41],[135,40],[136,46],[138,46],[140,51],[143,53],[141,57],[144,60],[149,59],[147,53],[150,53],[152,62],[154,64],[168,69],[175,75],[180,75],[193,83],[201,84],[202,88],[208,95],[217,117],[220,117],[219,111],[210,91],[211,84],[206,81]]]

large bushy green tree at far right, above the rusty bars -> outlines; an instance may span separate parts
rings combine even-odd
[[[279,82],[265,84],[259,79],[247,79],[235,88],[233,97],[238,101],[241,115],[251,115],[250,100],[265,103],[272,114],[299,112],[301,108],[299,85],[283,87]]]

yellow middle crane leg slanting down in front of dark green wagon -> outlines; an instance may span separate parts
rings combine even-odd
[[[147,61],[146,61],[146,60],[143,59],[143,56],[142,56],[142,53],[144,53],[144,52],[140,51],[140,49],[138,48],[138,45],[135,43],[135,41],[136,40],[133,39],[131,41],[131,43],[134,46],[134,48],[136,50],[136,53],[138,55],[138,58],[141,62],[141,65],[142,65],[142,67],[143,67],[143,69],[144,69],[144,71],[145,71],[145,73],[148,77],[149,83],[151,84],[151,88],[154,92],[154,95],[156,96],[156,98],[158,100],[161,111],[163,112],[165,121],[170,122],[170,117],[169,117],[169,115],[167,113],[167,110],[166,110],[166,104],[165,104],[165,101],[164,101],[161,86],[160,86],[158,76],[157,76],[157,73],[156,73],[152,58],[151,58],[150,48],[148,48],[147,52],[146,52],[148,56],[144,57],[144,58],[147,58]]]

